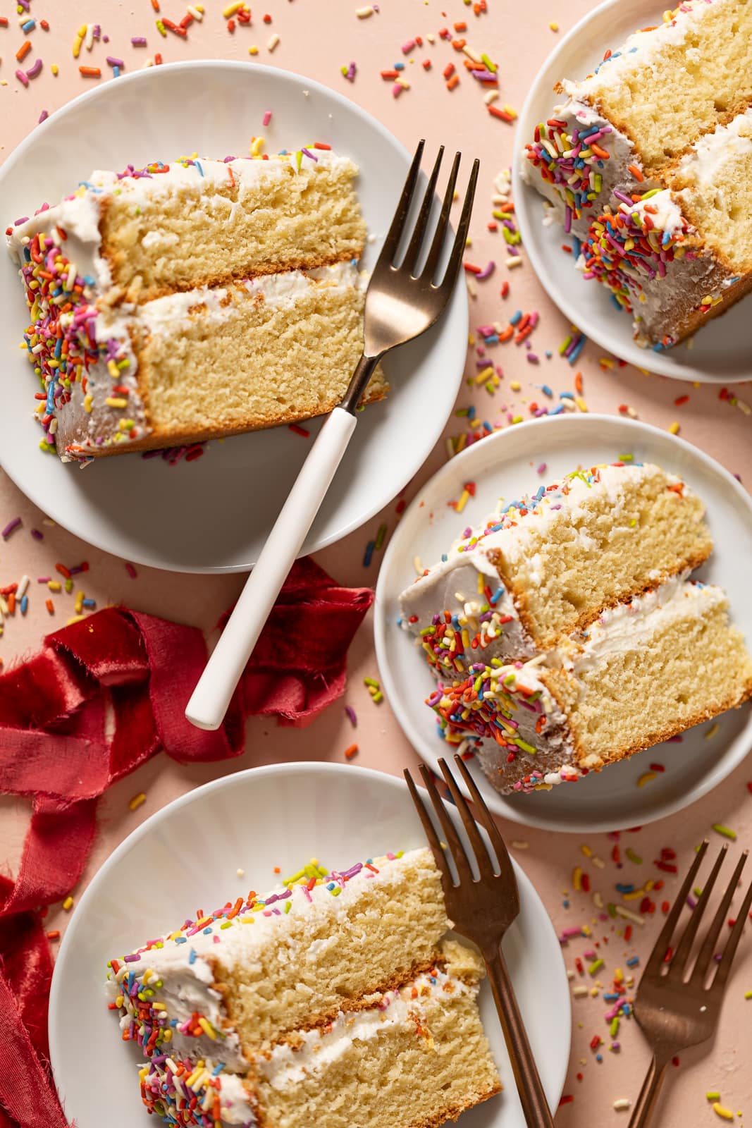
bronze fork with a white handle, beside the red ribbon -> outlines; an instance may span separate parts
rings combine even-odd
[[[428,177],[428,185],[407,250],[404,255],[399,253],[408,233],[407,219],[410,208],[418,199],[418,174],[423,149],[424,142],[421,141],[407,174],[395,218],[371,274],[365,294],[363,355],[357,362],[345,398],[334,408],[311,446],[287,500],[266,538],[256,566],[246,581],[232,615],[188,702],[185,715],[200,729],[218,729],[222,723],[230,698],[285,576],[303,546],[353,437],[357,421],[357,405],[374,368],[386,353],[398,345],[407,344],[408,341],[414,341],[439,320],[462,272],[462,255],[468,237],[479,162],[476,160],[472,164],[449,263],[443,268],[444,245],[449,243],[448,233],[451,235],[449,212],[460,167],[458,152],[449,174],[444,200],[432,238],[428,226],[443,146]],[[422,266],[424,255],[425,265]],[[387,433],[383,438],[383,450],[388,453]]]

